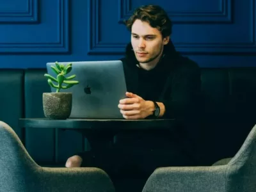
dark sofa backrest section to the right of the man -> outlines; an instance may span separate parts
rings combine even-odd
[[[204,68],[202,93],[212,161],[234,156],[256,122],[256,68]]]

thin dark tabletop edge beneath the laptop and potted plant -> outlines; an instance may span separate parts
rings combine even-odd
[[[170,129],[174,119],[86,119],[68,118],[67,120],[50,120],[48,118],[20,118],[20,127],[60,128],[60,129]]]

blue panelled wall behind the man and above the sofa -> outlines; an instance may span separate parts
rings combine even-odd
[[[116,60],[141,4],[164,6],[177,50],[201,67],[256,66],[255,0],[0,0],[0,68]]]

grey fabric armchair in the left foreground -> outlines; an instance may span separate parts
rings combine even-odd
[[[0,191],[113,192],[99,168],[47,168],[29,156],[13,129],[0,121]]]

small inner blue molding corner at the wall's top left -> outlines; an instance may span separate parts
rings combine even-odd
[[[38,1],[28,0],[28,9],[22,12],[15,10],[15,7],[12,11],[0,12],[0,23],[38,23]]]

